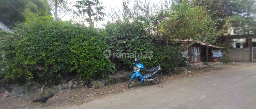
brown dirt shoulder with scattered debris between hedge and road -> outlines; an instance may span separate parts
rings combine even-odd
[[[217,65],[210,68],[197,69],[193,73],[186,74],[175,74],[171,76],[162,76],[161,82],[170,82],[170,80],[182,79],[186,77],[191,77],[197,74],[207,73],[213,70],[221,69],[233,69],[247,67],[241,64],[224,64]],[[19,98],[5,98],[0,99],[0,105],[3,109],[52,109],[52,108],[65,108],[70,106],[77,106],[95,99],[100,99],[103,97],[115,95],[125,91],[133,90],[140,87],[133,87],[133,89],[127,88],[127,82],[121,82],[111,85],[106,85],[101,89],[89,89],[89,88],[76,88],[76,89],[66,89],[58,91],[55,93],[53,98],[50,98],[46,103],[48,106],[39,107],[40,103],[30,104],[32,100],[42,96],[39,93],[28,94]],[[141,85],[141,87],[146,86],[146,84],[140,84],[137,82],[135,85]],[[151,85],[151,84],[148,84]]]

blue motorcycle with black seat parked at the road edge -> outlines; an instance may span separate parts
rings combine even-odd
[[[157,74],[157,72],[161,69],[160,66],[147,69],[145,71],[146,75],[141,75],[140,73],[141,68],[145,68],[145,66],[140,63],[138,58],[135,58],[135,67],[133,67],[134,71],[131,76],[131,79],[128,82],[128,85],[127,85],[128,88],[132,87],[136,79],[138,79],[140,83],[150,82],[151,84],[158,84],[158,82],[160,81],[160,75]]]

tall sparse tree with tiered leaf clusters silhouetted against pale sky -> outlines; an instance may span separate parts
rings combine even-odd
[[[96,21],[96,27],[98,21],[103,21],[106,15],[102,12],[105,7],[101,6],[99,0],[79,0],[76,1],[77,11],[73,11],[74,15],[77,16],[76,19],[79,20],[83,25],[89,22],[90,27],[94,27],[94,22]],[[88,16],[88,17],[87,17]]]

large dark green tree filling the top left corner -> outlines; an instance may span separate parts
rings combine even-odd
[[[0,0],[0,14],[12,22],[23,22],[29,13],[45,16],[49,13],[46,0]]]

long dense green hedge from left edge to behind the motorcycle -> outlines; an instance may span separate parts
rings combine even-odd
[[[105,29],[94,29],[31,13],[24,23],[16,24],[13,32],[0,31],[0,52],[5,55],[0,62],[0,77],[5,82],[54,82],[77,74],[88,80],[115,72],[117,64],[132,67],[134,58],[105,59],[104,50],[152,52],[153,57],[140,58],[146,68],[161,66],[162,73],[174,73],[179,48],[151,42],[149,24],[143,20],[139,17],[133,22],[108,23]]]

